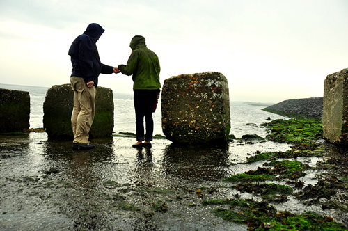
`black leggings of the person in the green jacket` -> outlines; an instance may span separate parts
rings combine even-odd
[[[136,141],[152,141],[152,109],[156,102],[158,92],[158,90],[134,90]],[[146,137],[144,136],[144,117]]]

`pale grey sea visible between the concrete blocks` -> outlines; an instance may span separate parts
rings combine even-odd
[[[0,84],[0,88],[10,90],[23,90],[28,91],[30,95],[30,119],[29,124],[32,129],[42,128],[43,126],[43,103],[47,87],[40,86],[19,86]],[[133,132],[135,133],[135,112],[133,104],[133,95],[125,93],[113,92],[114,102],[114,127],[113,132],[118,134],[119,132]],[[153,113],[154,119],[154,135],[163,135],[161,128],[161,98],[159,104],[157,104],[157,110]],[[270,106],[271,104],[269,104]],[[244,134],[257,134],[258,136],[265,137],[269,133],[267,129],[260,126],[264,122],[269,122],[267,118],[271,120],[284,119],[284,116],[279,116],[274,113],[262,111],[267,107],[266,104],[252,103],[252,102],[237,102],[230,99],[230,117],[231,117],[231,129],[230,134],[235,135],[237,138],[241,138]]]

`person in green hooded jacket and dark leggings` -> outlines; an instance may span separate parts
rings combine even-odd
[[[148,49],[143,36],[134,36],[129,46],[132,49],[132,54],[129,56],[127,65],[118,65],[118,69],[122,74],[132,75],[133,79],[137,141],[133,148],[151,148],[154,124],[152,112],[161,88],[159,81],[161,67],[159,58]],[[144,135],[144,117],[146,135]]]

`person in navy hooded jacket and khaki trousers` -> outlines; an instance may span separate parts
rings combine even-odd
[[[120,72],[117,67],[104,65],[100,61],[96,42],[104,33],[102,26],[89,24],[86,31],[72,42],[68,54],[71,57],[70,82],[74,90],[74,108],[71,125],[74,134],[73,149],[93,149],[88,132],[95,115],[95,93],[99,74]]]

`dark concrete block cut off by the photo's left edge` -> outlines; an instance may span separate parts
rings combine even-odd
[[[0,88],[0,102],[0,133],[29,129],[29,92]]]

